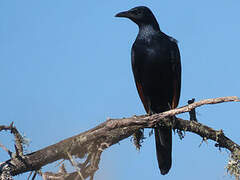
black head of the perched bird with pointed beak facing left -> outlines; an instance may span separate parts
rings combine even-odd
[[[125,17],[131,19],[138,26],[158,24],[152,11],[145,6],[138,6],[128,11],[123,11],[115,15],[115,17]]]

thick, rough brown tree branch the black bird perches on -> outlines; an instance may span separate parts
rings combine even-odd
[[[6,169],[12,176],[27,171],[37,171],[42,166],[59,159],[69,159],[68,154],[71,154],[78,158],[83,158],[87,155],[86,162],[79,165],[81,170],[79,173],[75,173],[75,175],[77,176],[78,174],[81,174],[84,178],[89,176],[93,177],[98,169],[100,156],[104,149],[131,136],[140,128],[153,128],[156,124],[181,131],[189,131],[198,134],[202,138],[216,141],[218,147],[228,149],[239,160],[240,146],[226,137],[222,130],[214,130],[199,122],[183,120],[180,118],[176,118],[173,122],[171,118],[180,113],[190,112],[202,105],[231,101],[239,102],[239,98],[232,96],[205,99],[151,116],[142,115],[123,119],[109,119],[93,129],[60,141],[54,145],[30,154],[12,157],[0,164],[0,175],[4,173]],[[0,126],[0,129],[1,127],[3,126]]]

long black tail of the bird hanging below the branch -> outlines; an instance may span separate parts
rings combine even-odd
[[[160,172],[167,174],[172,165],[172,129],[155,128],[156,153]]]

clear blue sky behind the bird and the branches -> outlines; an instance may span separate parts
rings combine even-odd
[[[240,1],[2,0],[0,124],[14,121],[31,140],[27,152],[83,132],[107,117],[145,113],[130,64],[138,29],[114,17],[138,5],[150,7],[162,31],[179,41],[180,106],[193,97],[240,96]],[[199,108],[197,115],[201,123],[222,128],[240,143],[238,111],[239,104],[225,103]],[[0,142],[13,150],[9,134],[1,132]],[[232,179],[224,169],[229,154],[219,152],[211,141],[199,148],[200,142],[190,133],[182,141],[174,135],[173,166],[161,176],[154,138],[147,138],[140,152],[126,139],[103,153],[96,179]],[[0,161],[6,159],[0,149]]]

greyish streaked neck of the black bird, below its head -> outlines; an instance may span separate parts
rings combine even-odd
[[[160,28],[157,25],[141,25],[139,26],[138,39],[149,39],[155,34],[160,32]]]

